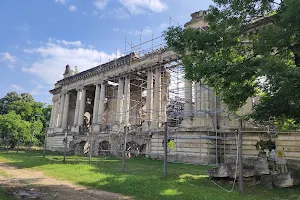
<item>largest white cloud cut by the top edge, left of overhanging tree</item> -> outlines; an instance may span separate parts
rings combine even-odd
[[[146,12],[163,12],[168,9],[162,0],[120,0],[132,14],[143,14]]]

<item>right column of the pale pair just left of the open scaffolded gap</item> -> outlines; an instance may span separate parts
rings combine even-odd
[[[153,114],[151,128],[160,127],[160,112],[161,112],[161,69],[158,67],[155,71],[155,86],[153,99]]]

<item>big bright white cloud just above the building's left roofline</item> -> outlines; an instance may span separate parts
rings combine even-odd
[[[23,67],[23,71],[36,75],[47,84],[54,84],[63,78],[65,66],[71,68],[78,66],[79,71],[84,71],[116,58],[116,54],[107,54],[95,49],[82,47],[66,47],[63,44],[49,40],[49,42],[34,49],[25,49],[25,53],[40,56],[40,59],[33,62],[30,67]]]

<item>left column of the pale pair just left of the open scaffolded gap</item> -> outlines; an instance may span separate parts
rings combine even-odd
[[[147,74],[147,96],[146,96],[146,115],[145,122],[143,124],[143,130],[147,131],[152,121],[153,110],[153,71],[148,70]]]

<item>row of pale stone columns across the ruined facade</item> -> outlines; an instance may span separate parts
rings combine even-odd
[[[144,130],[159,128],[167,120],[167,102],[162,101],[168,101],[168,99],[162,99],[162,93],[167,92],[165,90],[168,90],[168,84],[162,83],[162,75],[161,67],[147,71]],[[166,86],[164,86],[165,84]],[[104,124],[106,87],[107,83],[103,81],[95,84],[92,124],[96,131],[100,130],[99,126]],[[117,102],[112,120],[114,124],[125,125],[129,123],[130,119],[130,77],[119,77],[117,87]],[[79,131],[78,127],[84,123],[87,93],[84,86],[76,88],[76,91],[77,98],[72,124],[72,130],[75,132]],[[184,99],[183,114],[185,119],[199,117],[203,115],[203,111],[215,109],[214,91],[211,88],[203,88],[200,83],[184,80]],[[56,99],[53,99],[50,128],[65,130],[68,127],[69,104],[70,91],[65,90],[60,93],[59,98],[56,96]]]

